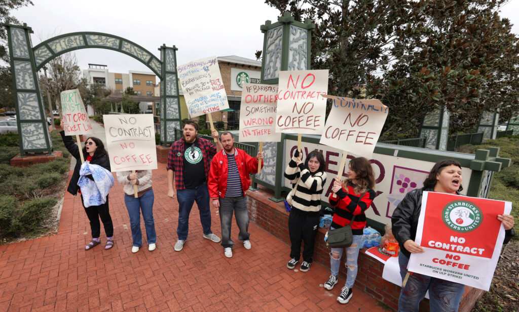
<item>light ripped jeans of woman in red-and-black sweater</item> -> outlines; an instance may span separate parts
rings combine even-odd
[[[346,284],[348,288],[352,288],[357,277],[359,268],[357,259],[359,258],[360,245],[362,243],[362,235],[353,235],[353,242],[350,247],[346,248]],[[330,271],[332,275],[339,275],[340,258],[343,256],[344,248],[331,248],[330,252]],[[334,255],[336,257],[334,257]]]

